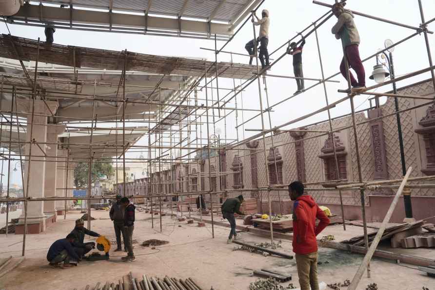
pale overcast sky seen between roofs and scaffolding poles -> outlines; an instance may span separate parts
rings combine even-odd
[[[334,3],[333,0],[324,0],[324,2],[331,4]],[[425,20],[428,21],[434,18],[435,1],[422,0],[422,4],[425,13]],[[302,31],[305,27],[310,25],[328,10],[327,7],[316,5],[310,0],[266,0],[260,7],[257,13],[258,16],[260,16],[260,11],[263,8],[268,9],[270,13],[268,47],[270,53],[288,41],[290,38],[293,38],[295,35],[297,35],[297,32]],[[418,26],[421,23],[417,0],[348,0],[346,8],[412,26]],[[331,34],[331,27],[335,24],[335,22],[336,18],[332,17],[317,29],[325,77],[329,77],[330,75],[338,72],[339,64],[342,59],[341,42],[336,40],[334,35]],[[364,59],[367,56],[374,54],[379,49],[384,48],[384,41],[386,39],[391,39],[393,42],[396,42],[407,36],[410,36],[415,32],[412,29],[367,19],[361,16],[355,16],[355,23],[361,38],[361,43],[359,45],[361,59]],[[9,24],[9,29],[11,33],[16,36],[35,40],[38,39],[38,37],[40,37],[42,40],[45,39],[43,28],[40,27]],[[435,31],[435,21],[429,25],[429,30]],[[256,26],[256,31],[258,34],[258,26]],[[0,33],[8,33],[3,22],[0,23]],[[77,45],[118,51],[127,49],[129,51],[145,54],[195,58],[200,57],[209,61],[215,60],[214,52],[200,49],[200,47],[214,48],[214,40],[196,40],[187,38],[159,37],[136,34],[129,35],[62,29],[56,30],[54,39],[55,43],[64,45]],[[244,45],[251,39],[253,39],[253,26],[251,22],[248,21],[247,24],[237,34],[237,36],[225,47],[225,50],[246,53],[244,50]],[[218,47],[221,47],[223,43],[223,41],[219,41]],[[431,51],[433,52],[433,57],[435,58],[435,35],[429,35],[429,43]],[[277,57],[282,55],[284,52],[285,48],[272,55],[271,58],[277,59]],[[395,47],[393,55],[396,77],[429,66],[423,34],[417,35],[411,40]],[[304,76],[306,78],[320,79],[321,71],[317,52],[316,37],[314,33],[306,39],[302,59]],[[218,61],[229,62],[230,55],[219,54]],[[233,61],[247,63],[249,60],[248,57],[234,56]],[[373,65],[375,64],[376,60],[374,58],[364,62],[367,86],[376,84],[374,81],[369,80],[369,76],[373,71]],[[269,74],[293,76],[292,56],[287,55],[282,60],[277,62],[277,64],[274,65],[269,71]],[[415,83],[428,78],[430,78],[430,73],[425,73],[399,82],[397,86],[402,87],[407,84]],[[340,83],[326,83],[327,94],[330,103],[344,97],[342,93],[337,92],[337,89],[347,88],[347,82],[341,77],[341,75],[336,76],[333,80],[340,81]],[[305,81],[305,87],[308,87],[314,83],[316,82]],[[239,84],[238,80],[236,80],[236,84]],[[219,86],[232,87],[233,80],[219,79]],[[269,105],[276,104],[277,102],[290,97],[297,90],[296,81],[293,79],[267,77],[267,87],[268,100],[266,100],[264,90],[261,91],[263,107],[268,106],[267,101],[269,102]],[[264,88],[262,82],[261,88]],[[386,92],[390,90],[392,90],[391,85],[387,85],[378,88],[376,91]],[[211,93],[211,90],[209,90],[209,97],[211,97]],[[227,91],[220,90],[220,98],[222,98],[222,95],[226,93]],[[199,98],[205,98],[204,92],[200,93],[198,96]],[[216,99],[216,96],[217,92],[214,90],[213,97]],[[356,110],[368,107],[368,98],[369,96],[367,95],[357,96],[355,99]],[[201,103],[204,102],[199,102],[199,104]],[[246,89],[246,91],[241,94],[241,96],[239,95],[237,97],[237,103],[239,107],[241,106],[241,103],[243,103],[244,108],[259,109],[260,106],[257,82],[252,83]],[[300,116],[313,112],[325,105],[325,94],[323,91],[323,86],[320,84],[275,107],[271,114],[270,123],[272,126],[284,124]],[[228,106],[234,106],[234,103],[232,102],[232,104],[228,104]],[[339,104],[331,110],[332,117],[343,115],[349,112],[349,102]],[[215,113],[217,114],[217,112]],[[235,112],[233,112],[226,118],[226,124],[225,120],[221,120],[219,122],[215,122],[214,126],[210,125],[211,134],[215,133],[216,130],[220,133],[220,137],[222,139],[225,135],[227,139],[237,139],[237,135],[238,140],[248,138],[257,132],[244,131],[242,127],[239,127],[238,132],[236,132],[234,127],[236,123],[240,124],[242,119],[248,120],[256,114],[257,112],[245,111],[243,114],[240,112],[236,120]],[[265,128],[268,129],[269,117],[267,114],[265,114],[264,117]],[[312,124],[326,119],[327,113],[324,112],[310,117],[304,121],[292,124],[289,127],[284,127],[284,129],[296,128],[305,124]],[[218,119],[215,121],[217,120]],[[211,121],[212,120],[210,120],[210,122]],[[244,129],[260,128],[260,117],[257,117],[253,121],[250,121],[244,125]],[[202,131],[202,138],[206,138],[206,134],[204,133],[206,132],[205,125]],[[138,144],[145,145],[147,143],[146,139],[147,138],[142,138]],[[225,140],[222,140],[221,142],[225,142]],[[128,155],[136,157],[139,155],[139,153],[130,153]],[[20,183],[19,172],[20,171],[16,171],[16,173],[13,173],[12,183]],[[6,176],[3,177],[3,183],[5,183],[6,178]]]

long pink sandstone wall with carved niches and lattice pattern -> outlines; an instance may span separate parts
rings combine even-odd
[[[434,97],[432,82],[424,81],[399,89],[399,94]],[[405,109],[426,100],[399,98],[399,108]],[[368,180],[398,179],[402,177],[400,151],[397,137],[395,115],[375,119],[395,111],[394,99],[378,108],[356,114],[356,122],[366,122],[357,126],[359,150],[361,154],[362,178]],[[400,114],[402,134],[405,147],[406,166],[414,168],[412,177],[435,175],[435,106],[425,105]],[[373,121],[371,121],[373,120]],[[333,128],[347,127],[352,124],[351,116],[333,120]],[[301,129],[301,128],[298,128]],[[309,126],[308,130],[329,130],[329,123]],[[294,180],[303,182],[326,182],[338,179],[334,159],[332,140],[328,135],[310,138],[322,133],[313,132],[278,132],[272,138],[266,138],[267,160],[264,160],[263,141],[261,139],[240,145],[239,150],[220,150],[217,156],[210,158],[210,168],[214,172],[227,172],[226,175],[212,175],[211,188],[229,190],[239,188],[257,188],[268,184],[266,164],[269,168],[269,180],[272,184],[283,184],[282,190],[271,191],[273,213],[291,212],[286,185]],[[330,136],[330,135],[329,135]],[[335,133],[335,145],[340,179],[357,181],[356,150],[352,128],[345,128]],[[216,152],[217,153],[217,152]],[[274,156],[275,155],[275,156]],[[213,154],[212,154],[213,156]],[[193,156],[192,156],[193,157]],[[171,170],[152,173],[150,178],[136,180],[127,184],[127,195],[181,193],[196,190],[209,190],[209,160],[198,160],[189,164],[177,164]],[[200,172],[206,174],[200,175]],[[161,175],[161,176],[160,176]],[[160,188],[156,185],[161,181]],[[149,182],[151,180],[151,183]],[[172,183],[172,185],[171,185]],[[420,182],[433,183],[431,181]],[[415,184],[415,183],[411,183]],[[308,186],[309,187],[309,186]],[[314,187],[314,186],[313,186]],[[315,187],[321,187],[317,185]],[[122,184],[117,185],[122,194]],[[330,207],[336,214],[341,214],[337,191],[309,191],[320,205]],[[220,197],[237,196],[240,192],[213,195],[213,201]],[[257,198],[258,210],[268,211],[267,191],[243,192],[244,196]],[[365,206],[368,221],[381,221],[393,199],[392,189],[366,190]],[[344,215],[348,219],[361,218],[359,191],[342,191]],[[210,195],[206,195],[210,201]],[[281,204],[279,202],[286,200]],[[435,216],[435,189],[412,189],[412,204],[416,219]],[[283,206],[284,205],[284,206]],[[402,222],[404,218],[403,202],[396,207],[392,221]]]

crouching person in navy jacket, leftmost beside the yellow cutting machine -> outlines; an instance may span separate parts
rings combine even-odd
[[[47,252],[47,261],[50,263],[50,266],[55,268],[61,267],[63,269],[75,266],[70,264],[73,259],[77,262],[80,260],[72,245],[75,238],[76,236],[70,233],[66,238],[59,239],[50,246]],[[60,265],[62,262],[63,266]]]

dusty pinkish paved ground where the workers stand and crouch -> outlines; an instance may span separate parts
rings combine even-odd
[[[93,211],[92,215],[97,218],[92,222],[92,230],[106,235],[110,240],[115,239],[108,211]],[[158,216],[154,216],[153,229],[151,215],[144,212],[137,212],[134,239],[139,243],[147,239],[160,239],[169,241],[169,244],[157,249],[136,245],[134,251],[137,260],[132,263],[121,262],[120,256],[124,255],[123,252],[113,252],[109,261],[83,261],[78,267],[71,269],[49,267],[45,258],[48,247],[54,240],[66,236],[74,227],[74,221],[80,216],[78,212],[68,213],[66,220],[58,219],[58,223],[45,232],[27,235],[26,259],[17,269],[0,278],[0,289],[83,290],[87,284],[93,287],[97,282],[116,282],[132,271],[136,275],[193,277],[205,290],[209,290],[211,286],[215,290],[246,290],[249,284],[257,279],[251,276],[252,270],[261,268],[293,274],[292,283],[298,287],[294,259],[233,251],[236,245],[226,244],[228,228],[215,226],[215,239],[212,239],[211,225],[206,224],[205,228],[198,228],[196,223],[188,225],[169,216],[162,217],[163,231],[160,233]],[[334,231],[337,229],[338,227],[334,226]],[[328,231],[333,231],[333,228]],[[240,236],[246,242],[269,241],[250,233],[241,233]],[[90,240],[92,239],[91,237]],[[22,235],[12,234],[7,238],[1,235],[0,243],[3,247],[0,258],[10,255],[19,257],[21,240]],[[281,250],[291,253],[290,242],[282,241]],[[362,256],[334,249],[319,249],[319,261],[322,262],[318,268],[319,281],[335,283],[352,279]],[[325,264],[325,261],[329,263]],[[435,279],[415,268],[374,259],[371,263],[372,278],[368,279],[364,275],[358,290],[365,290],[367,284],[373,282],[377,283],[379,290],[421,290],[423,286],[435,290]]]

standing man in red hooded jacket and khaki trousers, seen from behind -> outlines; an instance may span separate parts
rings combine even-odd
[[[304,186],[295,181],[289,185],[293,204],[293,251],[296,254],[300,290],[319,290],[317,281],[318,235],[329,224],[325,213],[310,195],[303,195]],[[316,227],[316,218],[320,223]]]

